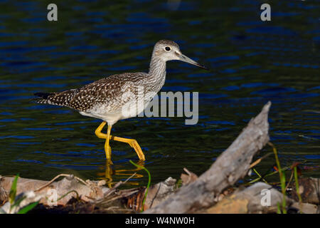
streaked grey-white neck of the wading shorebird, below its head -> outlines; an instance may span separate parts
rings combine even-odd
[[[148,74],[150,80],[154,81],[154,84],[159,87],[157,90],[160,90],[166,80],[166,61],[163,61],[153,53]]]

